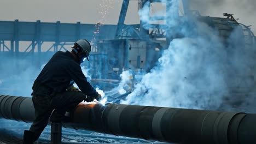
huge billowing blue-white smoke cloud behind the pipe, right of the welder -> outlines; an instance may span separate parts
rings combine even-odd
[[[159,63],[150,73],[144,75],[133,92],[121,101],[122,104],[183,107],[193,109],[218,109],[223,99],[230,94],[231,87],[245,86],[238,75],[247,75],[252,70],[253,51],[241,45],[239,29],[235,29],[224,44],[218,31],[192,17],[178,19],[173,9],[177,1],[171,1],[167,19],[168,35],[182,34],[183,38],[173,39],[167,50],[162,52]],[[144,16],[147,8],[139,15]],[[148,27],[147,25],[147,27]],[[145,27],[145,28],[147,28]],[[246,62],[246,64],[245,64]],[[231,85],[232,84],[232,85]],[[252,82],[247,82],[247,87]]]

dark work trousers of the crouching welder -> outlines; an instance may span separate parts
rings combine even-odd
[[[30,131],[34,133],[33,141],[39,138],[50,116],[51,122],[63,122],[66,111],[74,112],[75,107],[86,97],[83,92],[52,93],[44,88],[37,90],[32,97],[36,116],[30,127]]]

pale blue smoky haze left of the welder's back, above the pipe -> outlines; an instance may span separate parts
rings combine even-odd
[[[14,57],[3,53],[5,62],[1,62],[0,93],[28,97],[32,93],[32,85],[40,72],[40,65],[34,64],[31,57]]]

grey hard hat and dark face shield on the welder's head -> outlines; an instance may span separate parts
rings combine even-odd
[[[75,47],[73,51],[78,56],[80,63],[84,62],[85,59],[89,61],[89,53],[91,52],[91,45],[88,40],[80,39],[74,43]]]

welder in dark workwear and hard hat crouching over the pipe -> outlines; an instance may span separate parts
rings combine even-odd
[[[75,106],[80,102],[101,100],[101,95],[86,80],[80,67],[85,59],[89,61],[90,51],[90,43],[80,39],[74,43],[71,52],[56,52],[44,66],[32,87],[36,118],[30,130],[24,131],[24,144],[39,138],[49,117],[51,123],[71,122]],[[80,91],[73,86],[74,82]],[[66,112],[70,112],[71,117],[66,117]]]

